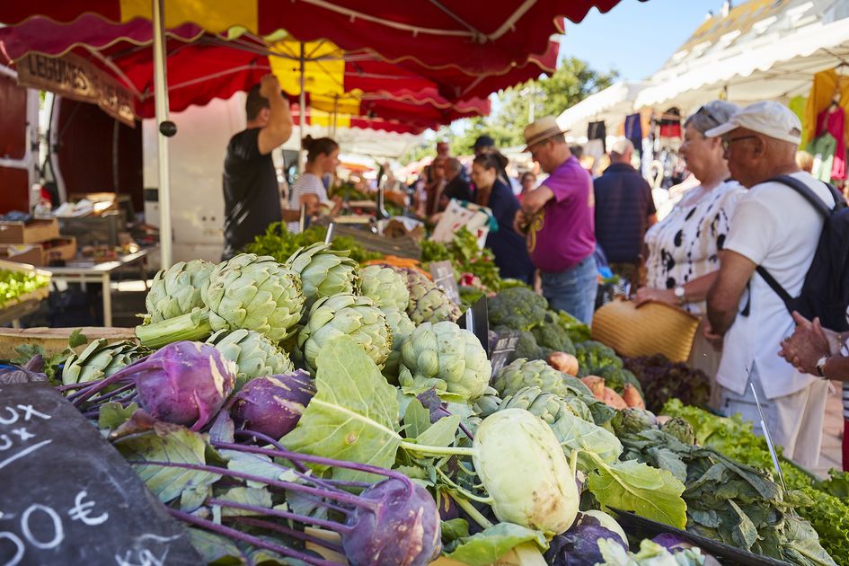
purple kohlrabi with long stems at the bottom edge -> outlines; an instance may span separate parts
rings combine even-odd
[[[358,507],[342,534],[352,566],[423,566],[442,550],[436,502],[413,482],[388,479],[360,494],[374,507]]]

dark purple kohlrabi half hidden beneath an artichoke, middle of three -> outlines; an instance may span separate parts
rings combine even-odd
[[[235,426],[282,438],[292,429],[315,394],[315,384],[303,369],[281,376],[255,377],[234,396]]]

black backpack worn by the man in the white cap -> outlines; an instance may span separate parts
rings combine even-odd
[[[769,181],[780,182],[798,192],[817,209],[825,224],[814,259],[805,274],[800,296],[790,296],[763,266],[757,266],[757,273],[782,298],[788,312],[799,311],[809,320],[818,316],[824,327],[836,332],[849,330],[846,322],[846,309],[849,307],[849,208],[846,208],[843,194],[825,183],[836,203],[835,208],[828,208],[808,185],[790,175],[780,175]]]

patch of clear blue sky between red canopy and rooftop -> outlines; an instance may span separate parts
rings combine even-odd
[[[645,79],[684,44],[708,11],[719,13],[721,6],[722,0],[622,0],[608,13],[593,8],[583,22],[566,22],[560,53],[599,71],[615,69],[623,79]]]

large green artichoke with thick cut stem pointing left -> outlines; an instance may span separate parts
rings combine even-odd
[[[301,318],[301,279],[274,258],[240,253],[219,263],[201,291],[204,308],[136,327],[142,344],[158,348],[178,340],[203,340],[217,330],[243,328],[284,340]]]

